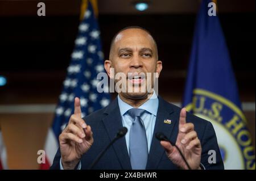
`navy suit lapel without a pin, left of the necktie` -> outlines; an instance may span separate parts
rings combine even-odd
[[[106,116],[102,121],[105,125],[106,131],[108,132],[110,140],[113,140],[118,130],[123,127],[117,98],[110,103],[108,108],[106,108],[105,113],[107,113],[108,116]],[[119,138],[119,140],[113,144],[113,148],[120,164],[122,165],[122,169],[130,170],[131,163],[125,137]]]

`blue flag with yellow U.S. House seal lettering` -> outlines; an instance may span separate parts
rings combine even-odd
[[[201,3],[183,106],[213,124],[225,169],[255,169],[254,147],[215,7],[210,0]]]

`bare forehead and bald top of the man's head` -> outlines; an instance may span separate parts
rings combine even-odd
[[[113,43],[114,47],[118,49],[126,46],[129,46],[131,48],[154,48],[154,40],[152,36],[146,31],[137,28],[131,28],[119,32],[118,35],[115,37]]]

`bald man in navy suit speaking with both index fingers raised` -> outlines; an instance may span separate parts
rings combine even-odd
[[[122,89],[109,106],[83,119],[80,100],[75,98],[75,113],[59,136],[60,149],[51,169],[88,169],[121,127],[128,129],[127,134],[93,169],[189,169],[174,145],[154,137],[157,132],[175,143],[191,169],[224,169],[212,124],[157,96],[152,91],[154,78],[143,76],[157,73],[158,78],[162,70],[155,40],[148,31],[127,27],[114,36],[105,61],[105,70],[114,79],[112,68],[115,74],[126,75],[115,79],[123,83],[121,89],[125,85],[139,91]],[[142,91],[146,84],[152,85],[151,91]]]

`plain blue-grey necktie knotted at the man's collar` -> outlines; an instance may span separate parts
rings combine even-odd
[[[147,165],[147,136],[140,118],[144,111],[138,108],[128,111],[129,115],[133,117],[133,124],[130,128],[130,161],[133,170],[144,170]]]

